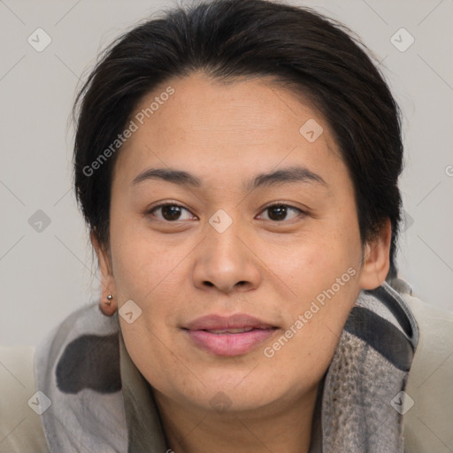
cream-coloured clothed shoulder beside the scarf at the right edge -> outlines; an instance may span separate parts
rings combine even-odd
[[[407,453],[449,451],[453,445],[453,311],[401,292],[418,326],[403,414]]]

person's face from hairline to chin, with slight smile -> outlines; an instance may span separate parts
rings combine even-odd
[[[186,407],[300,400],[326,372],[360,289],[388,270],[388,241],[362,246],[326,120],[270,80],[202,74],[165,82],[132,118],[103,275],[120,313],[133,313],[119,321],[134,364]]]

